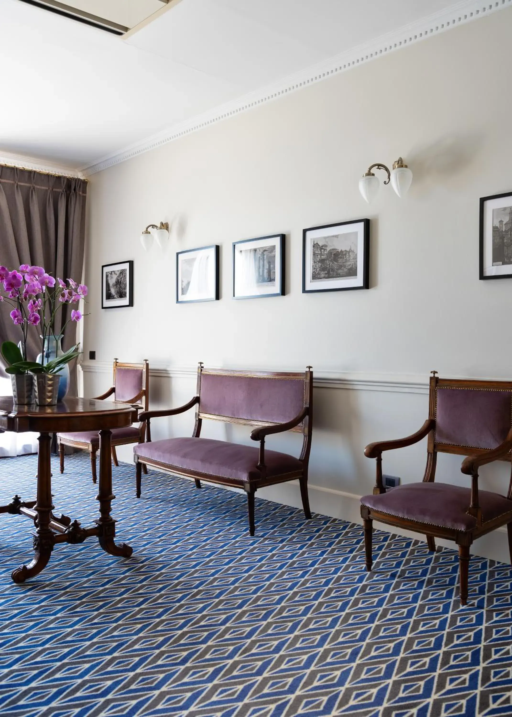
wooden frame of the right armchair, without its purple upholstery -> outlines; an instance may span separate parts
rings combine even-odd
[[[510,390],[512,391],[512,381],[473,381],[473,380],[451,380],[440,379],[437,371],[432,371],[430,377],[429,391],[429,417],[416,433],[402,439],[380,441],[370,443],[364,450],[364,455],[368,458],[376,459],[376,485],[374,487],[374,495],[385,493],[384,483],[382,480],[382,453],[387,450],[394,450],[413,445],[428,436],[427,443],[427,465],[425,467],[424,483],[433,483],[435,479],[435,469],[437,463],[437,453],[455,453],[458,455],[468,456],[463,460],[460,467],[464,475],[471,476],[471,494],[470,504],[468,505],[468,513],[475,516],[476,525],[470,531],[458,531],[454,528],[434,526],[431,524],[419,523],[417,521],[408,520],[407,518],[399,518],[391,516],[389,513],[381,513],[361,505],[361,518],[364,521],[364,544],[366,557],[366,570],[370,571],[372,567],[371,556],[371,535],[373,531],[372,523],[374,520],[386,523],[395,528],[404,528],[415,533],[423,533],[427,537],[427,545],[430,551],[435,551],[435,538],[448,538],[455,541],[459,551],[459,568],[460,568],[460,602],[465,605],[468,600],[468,570],[470,561],[470,545],[477,538],[496,530],[500,526],[506,525],[508,531],[508,548],[512,563],[512,516],[506,514],[498,518],[482,522],[482,511],[478,502],[478,469],[486,463],[495,460],[503,460],[511,462],[512,450],[512,428],[509,430],[506,440],[492,450],[483,448],[471,448],[461,445],[448,445],[437,442],[435,439],[435,414],[436,414],[436,391],[437,387],[456,388],[456,389],[483,389],[483,390]],[[508,485],[508,493],[506,497],[512,500],[512,473]]]

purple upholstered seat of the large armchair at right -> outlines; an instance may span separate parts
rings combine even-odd
[[[467,512],[470,499],[470,488],[448,483],[411,483],[399,485],[381,495],[364,495],[361,503],[405,520],[470,531],[476,525],[476,518]],[[488,490],[478,490],[478,502],[484,523],[504,513],[511,513],[512,521],[512,500]]]

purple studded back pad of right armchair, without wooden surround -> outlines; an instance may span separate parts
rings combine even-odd
[[[511,391],[437,388],[438,443],[496,448],[506,439],[511,424]]]

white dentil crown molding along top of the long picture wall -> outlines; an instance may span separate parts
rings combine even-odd
[[[247,112],[247,110],[252,110],[259,105],[283,97],[283,95],[296,92],[316,82],[322,82],[328,77],[346,72],[353,67],[364,65],[365,62],[371,62],[371,60],[376,60],[378,57],[383,57],[397,49],[409,47],[409,45],[421,42],[427,37],[473,22],[473,20],[480,19],[508,6],[512,6],[512,0],[463,0],[452,5],[450,9],[425,17],[394,32],[381,35],[366,44],[354,47],[349,52],[338,54],[329,58],[329,60],[308,67],[306,70],[301,70],[295,75],[289,75],[283,80],[279,80],[279,82],[267,85],[267,87],[250,92],[250,94],[243,95],[241,98],[209,110],[207,113],[196,115],[196,117],[183,123],[171,125],[158,134],[87,164],[80,168],[79,171],[86,177],[90,176],[192,132],[204,129],[209,125],[221,122],[234,115],[239,115],[242,112]]]

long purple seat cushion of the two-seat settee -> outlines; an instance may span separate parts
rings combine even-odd
[[[245,483],[261,478],[257,470],[259,448],[210,438],[169,438],[151,443],[139,443],[133,452],[142,459],[217,478],[230,478]],[[267,477],[302,470],[298,458],[265,450]]]

